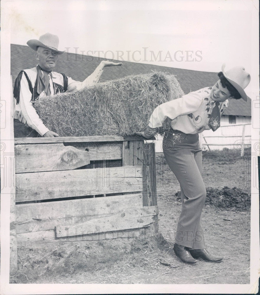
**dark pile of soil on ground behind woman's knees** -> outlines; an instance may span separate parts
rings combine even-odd
[[[227,186],[224,186],[223,189],[207,187],[206,190],[207,199],[205,205],[212,205],[223,209],[236,209],[237,211],[250,210],[250,195],[237,187],[233,187],[233,189]],[[175,196],[177,201],[181,201],[180,191]]]

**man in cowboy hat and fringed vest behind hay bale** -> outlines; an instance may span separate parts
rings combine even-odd
[[[40,36],[39,40],[29,40],[27,45],[35,51],[38,65],[19,73],[14,84],[16,107],[14,112],[14,137],[58,137],[49,130],[39,118],[33,105],[39,97],[72,92],[98,82],[104,67],[120,66],[102,60],[96,70],[83,82],[75,81],[64,74],[53,72],[58,55],[65,51],[58,50],[59,38],[50,33]]]

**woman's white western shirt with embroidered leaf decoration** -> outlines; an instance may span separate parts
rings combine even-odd
[[[213,106],[215,106],[215,101],[210,98],[211,89],[212,87],[205,87],[157,106],[150,117],[148,126],[161,127],[166,118],[169,118],[172,129],[186,134],[210,130],[208,122]],[[220,102],[220,116],[227,107],[228,100]]]

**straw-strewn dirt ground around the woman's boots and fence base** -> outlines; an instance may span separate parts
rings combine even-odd
[[[162,154],[157,154],[156,165],[160,233],[156,240],[102,240],[57,245],[52,250],[18,248],[19,270],[10,282],[249,283],[250,157],[241,158],[234,150],[204,152],[202,176],[210,188],[202,212],[205,242],[224,259],[221,263],[199,261],[194,266],[181,263],[173,253],[181,210],[179,184]],[[216,201],[219,198],[221,202]]]

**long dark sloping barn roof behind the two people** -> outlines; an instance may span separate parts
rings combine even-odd
[[[59,56],[55,71],[64,73],[74,80],[83,81],[93,73],[101,60],[103,58],[65,53]],[[127,61],[123,63],[124,66],[122,67],[105,69],[99,81],[113,80],[132,74],[145,74],[151,71],[163,71],[176,75],[182,90],[187,94],[190,91],[212,86],[218,79],[217,73],[213,72],[192,71]],[[34,51],[30,47],[11,44],[11,75],[13,76],[13,83],[21,70],[33,68],[36,64]],[[238,101],[231,99],[224,115],[251,116],[251,99],[248,99],[247,102],[243,99]]]

